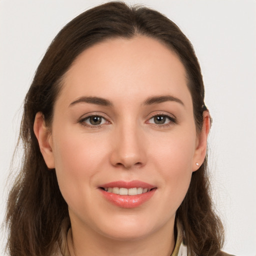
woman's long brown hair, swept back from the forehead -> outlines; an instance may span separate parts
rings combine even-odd
[[[53,105],[61,89],[61,78],[74,59],[89,46],[107,38],[155,38],[174,51],[183,63],[192,96],[197,132],[202,127],[204,86],[193,47],[180,29],[161,13],[123,2],[109,2],[89,9],[64,26],[42,58],[25,96],[20,139],[24,148],[22,166],[9,192],[6,225],[7,249],[11,256],[64,253],[70,226],[67,204],[57,183],[55,170],[48,170],[33,132],[34,117],[42,112],[51,124]],[[153,50],[153,49],[152,49]],[[192,173],[187,194],[176,212],[184,229],[188,250],[196,255],[218,255],[222,225],[212,208],[206,158]]]

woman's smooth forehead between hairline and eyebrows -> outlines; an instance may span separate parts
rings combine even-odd
[[[183,64],[163,43],[145,36],[114,38],[78,55],[63,77],[60,96],[139,95],[139,99],[141,94],[183,94],[189,98],[186,83]]]

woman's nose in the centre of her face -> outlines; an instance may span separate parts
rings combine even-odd
[[[111,164],[132,169],[145,165],[145,140],[141,128],[123,125],[116,129],[112,139]]]

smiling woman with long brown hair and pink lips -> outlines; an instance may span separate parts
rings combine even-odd
[[[210,117],[189,40],[110,2],[55,37],[25,97],[10,255],[222,255]]]

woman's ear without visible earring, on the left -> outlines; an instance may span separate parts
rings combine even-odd
[[[37,112],[34,118],[34,134],[38,140],[43,159],[49,169],[55,167],[54,155],[52,152],[52,136],[49,127],[45,125],[41,112]]]

